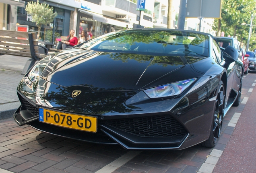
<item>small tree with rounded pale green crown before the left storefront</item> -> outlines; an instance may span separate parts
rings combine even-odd
[[[32,22],[35,22],[38,27],[37,38],[39,38],[41,26],[50,24],[57,16],[57,13],[53,12],[53,8],[49,7],[49,4],[45,2],[40,4],[39,0],[37,2],[29,2],[25,10],[27,14],[32,16]]]

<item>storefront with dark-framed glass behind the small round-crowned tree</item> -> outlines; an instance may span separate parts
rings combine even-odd
[[[0,0],[0,29],[38,32],[37,25],[32,22],[31,16],[25,10],[25,6],[30,1],[36,2],[37,0]],[[43,46],[53,45],[56,38],[68,36],[70,15],[75,8],[44,0],[39,0],[39,2],[46,2],[58,14],[52,23],[41,26],[38,39]]]

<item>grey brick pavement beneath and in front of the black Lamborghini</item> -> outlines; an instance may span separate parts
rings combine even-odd
[[[12,73],[8,71],[6,74]],[[250,97],[255,75],[249,73],[244,78],[243,100]],[[22,77],[17,76],[17,80]],[[19,127],[12,118],[1,120],[0,169],[15,173],[100,173],[103,170],[113,170],[113,173],[196,173],[200,170],[208,173],[213,170],[234,131],[228,124],[235,113],[242,113],[244,105],[232,107],[227,113],[221,138],[214,149],[196,145],[181,151],[140,151],[129,159],[124,155],[130,151],[118,145],[97,145],[57,137],[28,125]],[[209,156],[215,160],[211,161]],[[121,163],[127,162],[114,167],[118,159]],[[213,168],[202,167],[205,164]]]

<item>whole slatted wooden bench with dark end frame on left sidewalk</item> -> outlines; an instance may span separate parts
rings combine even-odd
[[[40,54],[39,47],[44,54]],[[35,32],[0,30],[0,54],[31,57],[23,69],[25,74],[36,61],[48,55],[48,49],[38,45]]]

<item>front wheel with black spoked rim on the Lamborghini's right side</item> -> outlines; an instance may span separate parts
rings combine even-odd
[[[221,136],[221,128],[223,123],[224,107],[225,107],[225,87],[222,81],[220,81],[218,88],[217,100],[215,103],[215,111],[213,121],[211,125],[211,132],[209,139],[202,142],[203,147],[212,148],[217,144],[219,137]]]

